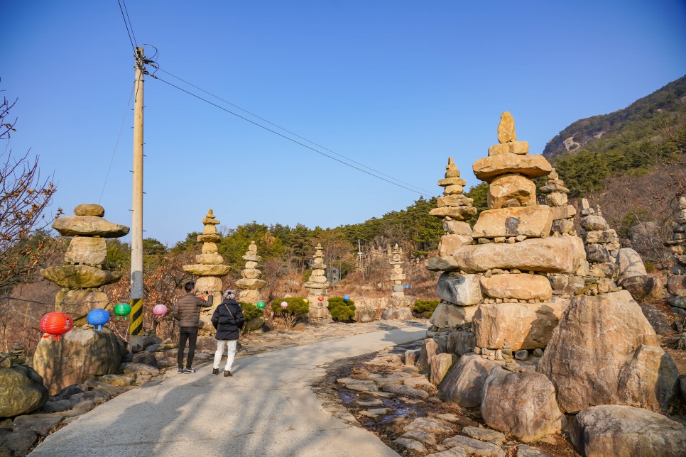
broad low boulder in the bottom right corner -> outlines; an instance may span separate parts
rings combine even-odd
[[[587,457],[677,457],[686,449],[686,427],[646,409],[606,404],[579,412],[570,439]]]

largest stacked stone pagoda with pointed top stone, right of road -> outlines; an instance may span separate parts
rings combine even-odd
[[[585,256],[576,236],[550,237],[553,211],[538,204],[533,178],[548,175],[552,167],[543,155],[529,155],[526,141],[517,141],[507,112],[498,140],[473,167],[474,175],[489,183],[489,209],[474,225],[474,243],[454,254],[456,268],[481,273],[484,299],[472,329],[477,353],[491,360],[545,347],[569,303],[552,297],[547,275],[573,273]]]

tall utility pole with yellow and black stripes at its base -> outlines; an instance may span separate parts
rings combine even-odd
[[[143,333],[143,75],[146,56],[136,47],[134,82],[134,176],[131,211],[131,324],[129,345]]]

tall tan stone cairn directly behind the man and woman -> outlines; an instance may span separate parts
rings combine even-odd
[[[202,235],[197,236],[197,241],[202,243],[202,253],[195,256],[195,264],[183,265],[183,270],[197,276],[195,290],[197,292],[212,293],[212,307],[200,311],[200,330],[198,336],[212,336],[214,327],[210,319],[212,313],[222,303],[223,282],[222,277],[229,274],[231,267],[224,265],[224,258],[217,252],[217,243],[222,236],[217,233],[217,225],[220,221],[214,218],[212,209],[207,211],[207,216],[202,219],[204,228]]]

